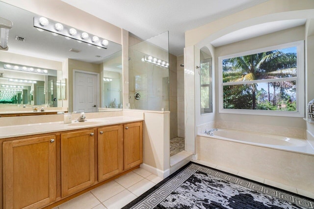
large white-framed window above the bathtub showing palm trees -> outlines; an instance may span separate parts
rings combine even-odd
[[[303,41],[219,57],[219,112],[304,117]]]

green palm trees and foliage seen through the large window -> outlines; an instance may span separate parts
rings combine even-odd
[[[269,51],[224,59],[223,82],[289,78],[296,76],[296,54]],[[267,81],[265,81],[267,82]],[[256,83],[224,86],[224,108],[296,111],[296,102],[288,99],[295,90],[295,81],[272,82],[273,95],[264,89],[258,91]],[[288,90],[290,93],[288,93]]]

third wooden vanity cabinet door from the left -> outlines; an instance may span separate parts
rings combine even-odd
[[[123,126],[98,129],[98,181],[123,171]]]

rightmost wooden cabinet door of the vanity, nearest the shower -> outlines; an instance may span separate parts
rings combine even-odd
[[[142,122],[124,125],[124,169],[127,170],[143,162]]]

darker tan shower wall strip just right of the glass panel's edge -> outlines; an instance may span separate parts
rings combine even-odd
[[[169,54],[170,138],[178,136],[177,57]]]

